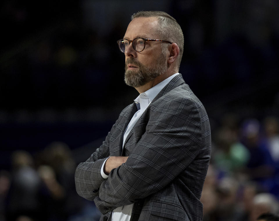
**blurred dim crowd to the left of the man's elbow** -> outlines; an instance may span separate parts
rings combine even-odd
[[[77,195],[76,162],[67,144],[53,142],[35,156],[12,153],[12,168],[0,172],[0,220],[99,220],[93,202]]]

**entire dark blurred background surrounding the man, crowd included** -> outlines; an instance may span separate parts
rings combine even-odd
[[[99,220],[74,171],[137,97],[116,41],[139,10],[169,13],[184,33],[180,73],[212,129],[204,221],[278,213],[277,0],[4,0],[0,221]]]

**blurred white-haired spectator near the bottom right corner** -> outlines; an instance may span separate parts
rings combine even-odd
[[[253,199],[253,208],[249,221],[255,221],[263,213],[278,214],[279,204],[276,198],[270,193],[259,193]]]

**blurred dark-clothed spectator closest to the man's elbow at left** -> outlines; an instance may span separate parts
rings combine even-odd
[[[39,164],[45,165],[41,166],[39,171],[53,197],[63,199],[63,204],[60,204],[60,213],[68,217],[81,211],[84,203],[76,193],[74,183],[76,165],[69,146],[63,142],[49,144],[42,151]],[[52,185],[61,190],[61,195],[58,195],[59,191],[55,190]]]

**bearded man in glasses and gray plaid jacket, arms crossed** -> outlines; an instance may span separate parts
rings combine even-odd
[[[138,12],[124,38],[126,84],[140,95],[76,169],[76,189],[100,220],[202,220],[210,160],[205,109],[178,73],[183,33],[164,12]]]

